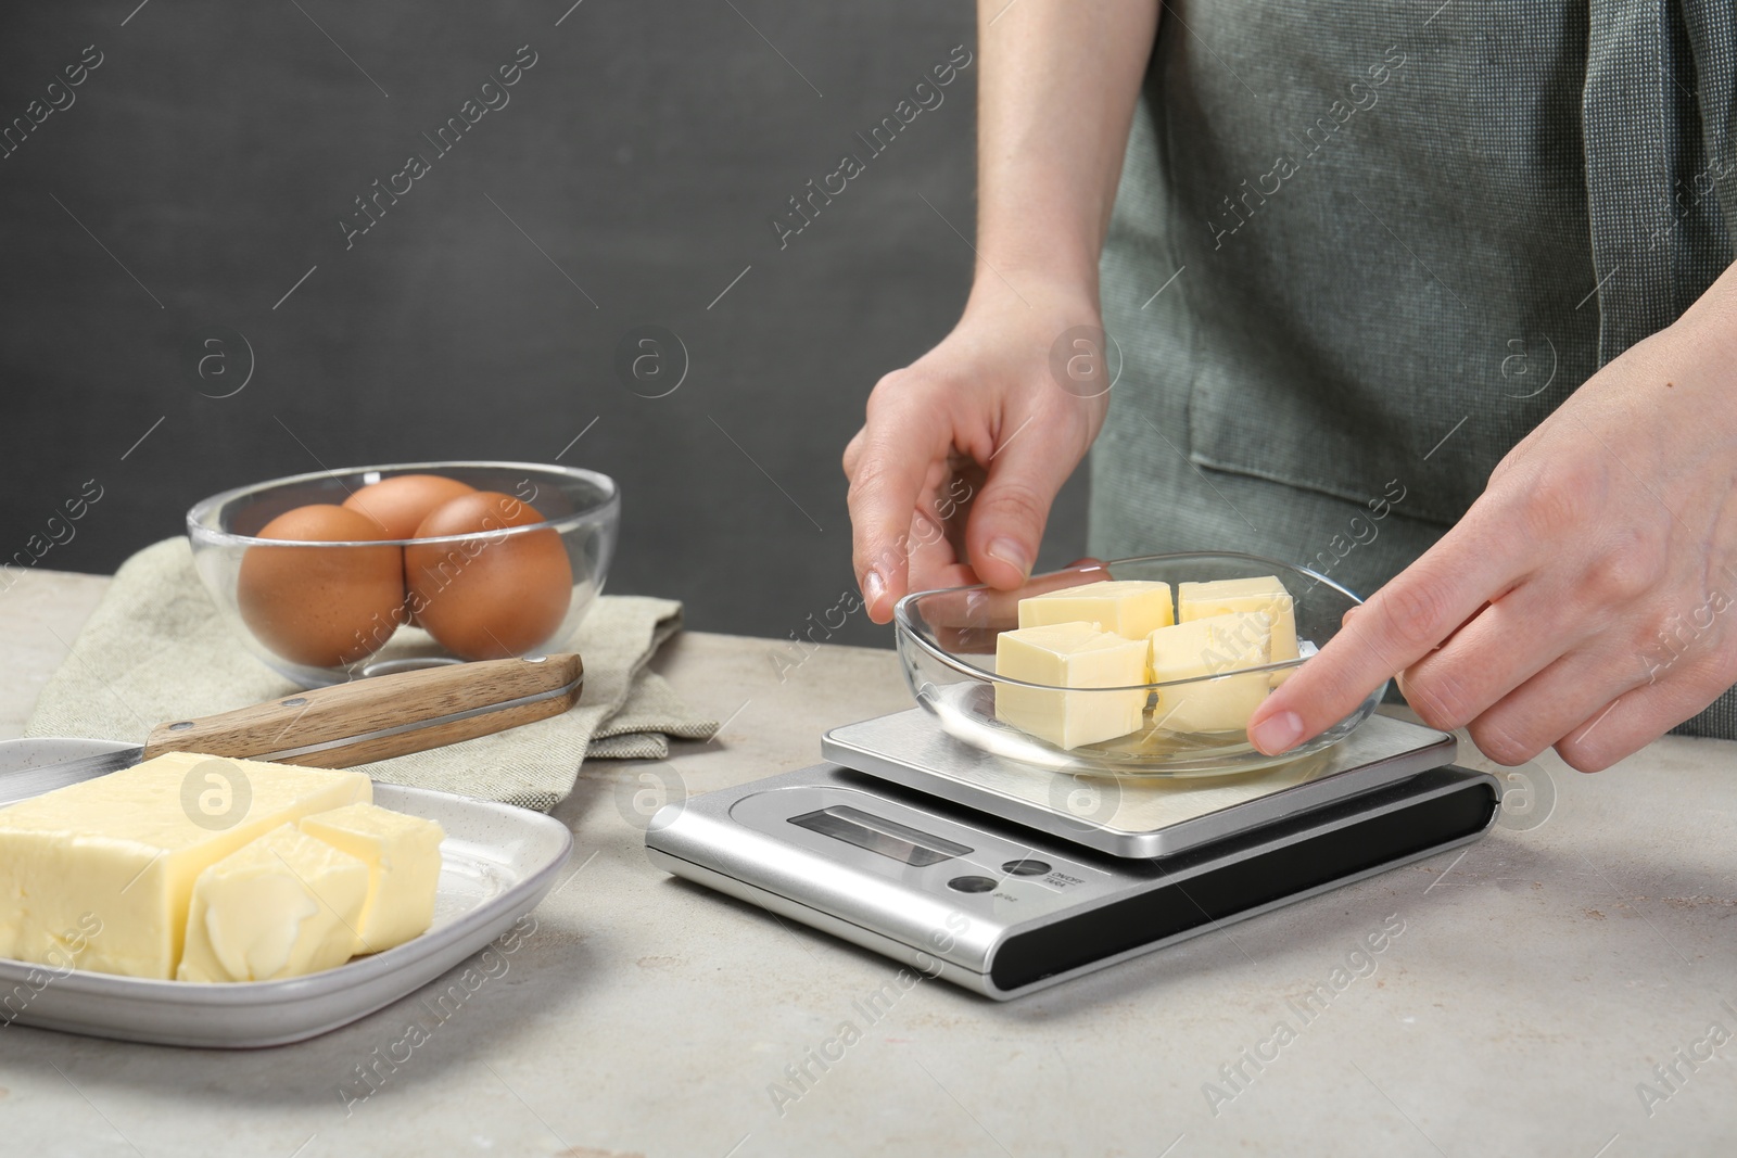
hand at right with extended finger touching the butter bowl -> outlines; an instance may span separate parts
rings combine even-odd
[[[1636,752],[1737,684],[1737,267],[1593,375],[1471,510],[1268,696],[1285,752],[1390,675],[1435,727],[1522,764]]]

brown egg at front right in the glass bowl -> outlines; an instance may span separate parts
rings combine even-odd
[[[443,503],[417,538],[542,523],[512,495],[476,491]],[[408,608],[443,648],[466,660],[523,655],[566,618],[573,569],[552,530],[405,547]]]

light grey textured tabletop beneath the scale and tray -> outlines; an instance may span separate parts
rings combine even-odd
[[[43,573],[0,595],[9,734],[101,587]],[[893,986],[868,1024],[858,1002],[895,965],[674,882],[641,851],[658,799],[809,764],[825,727],[907,703],[889,653],[823,648],[783,682],[778,653],[703,634],[665,651],[660,670],[730,724],[665,764],[585,766],[556,813],[577,875],[443,1021],[410,997],[243,1054],[3,1028],[0,1153],[1737,1148],[1730,745],[1664,740],[1600,776],[1544,759],[1544,823],[1536,804],[1532,826],[1007,1005]],[[1369,953],[1384,927],[1400,932]],[[406,1057],[413,1021],[427,1040]],[[822,1069],[809,1050],[844,1023],[860,1040]]]

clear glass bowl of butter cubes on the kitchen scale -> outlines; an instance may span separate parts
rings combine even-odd
[[[1034,599],[1021,630],[1020,602]],[[1018,590],[914,592],[893,622],[917,703],[976,748],[1068,773],[1223,776],[1322,752],[1376,710],[1386,688],[1282,755],[1245,731],[1358,602],[1277,559],[1174,554],[1034,575]]]

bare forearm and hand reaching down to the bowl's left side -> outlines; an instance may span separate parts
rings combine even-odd
[[[877,623],[910,590],[1018,587],[1103,425],[1086,365],[1101,375],[1098,252],[1157,26],[1159,0],[978,2],[971,300],[940,345],[881,378],[844,451],[853,564]]]

